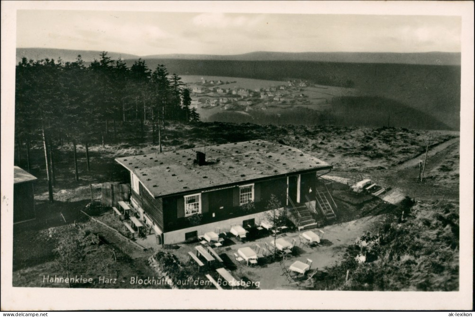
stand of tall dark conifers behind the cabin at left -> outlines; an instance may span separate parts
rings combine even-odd
[[[42,140],[51,192],[51,153],[65,140],[73,142],[75,162],[77,142],[87,155],[89,143],[115,139],[117,122],[133,122],[142,133],[151,128],[152,144],[160,142],[165,121],[198,120],[190,103],[180,77],[161,64],[153,72],[141,59],[127,67],[105,52],[87,67],[80,55],[72,63],[24,58],[16,68],[15,141],[26,146],[29,162],[30,143]]]

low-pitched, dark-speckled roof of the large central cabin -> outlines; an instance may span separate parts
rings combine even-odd
[[[196,163],[196,153],[206,164]],[[332,166],[302,151],[262,140],[116,158],[154,196],[161,197]]]

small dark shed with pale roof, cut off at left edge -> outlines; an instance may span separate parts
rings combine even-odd
[[[13,223],[35,219],[33,183],[37,178],[18,166],[13,167]]]

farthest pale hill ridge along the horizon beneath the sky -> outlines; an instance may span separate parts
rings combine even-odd
[[[55,59],[59,57],[65,62],[73,62],[81,54],[85,62],[98,59],[100,51],[65,50],[56,48],[17,48],[17,63],[22,57],[28,59]],[[184,60],[220,60],[220,61],[312,61],[332,63],[396,63],[421,65],[460,65],[460,53],[427,52],[427,53],[361,53],[361,52],[251,52],[237,55],[207,54],[157,54],[138,56],[108,52],[112,59],[184,59]]]

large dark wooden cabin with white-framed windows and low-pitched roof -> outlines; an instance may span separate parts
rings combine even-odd
[[[232,224],[258,225],[272,194],[281,208],[306,209],[308,203],[315,208],[317,179],[332,169],[296,148],[262,140],[115,161],[130,172],[131,204],[154,228],[159,244],[184,242],[216,228],[226,231]],[[253,208],[243,208],[250,202]],[[294,215],[298,225],[313,224],[304,212]],[[197,217],[190,220],[197,214],[199,223]]]

